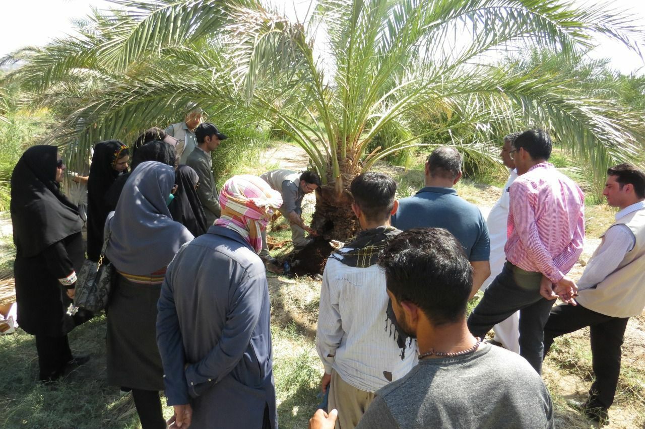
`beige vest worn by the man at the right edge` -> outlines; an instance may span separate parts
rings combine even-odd
[[[619,224],[626,225],[634,234],[634,247],[625,254],[617,269],[595,288],[580,291],[577,301],[586,309],[628,318],[638,316],[645,308],[645,209],[628,213],[613,225]],[[602,239],[599,248],[604,234]]]

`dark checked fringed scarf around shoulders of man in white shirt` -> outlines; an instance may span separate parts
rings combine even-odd
[[[331,257],[348,267],[367,268],[374,265],[379,259],[381,251],[387,247],[388,242],[401,231],[391,226],[381,226],[373,229],[366,229],[357,234],[352,242],[345,245],[344,252],[334,252]],[[412,338],[408,336],[397,323],[397,318],[392,309],[392,300],[388,300],[386,310],[385,330],[394,335],[399,348],[401,348],[401,359],[405,359],[406,347],[412,347]],[[408,345],[406,346],[406,343]]]

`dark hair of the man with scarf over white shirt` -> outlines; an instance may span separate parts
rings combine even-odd
[[[394,207],[397,184],[388,175],[368,172],[352,180],[350,191],[368,220],[386,220]]]

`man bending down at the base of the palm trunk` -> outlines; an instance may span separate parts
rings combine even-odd
[[[304,237],[305,231],[315,234],[315,231],[303,222],[303,197],[305,194],[312,193],[322,186],[321,178],[315,171],[297,171],[287,169],[277,169],[267,171],[260,176],[273,189],[278,191],[283,198],[283,205],[280,207],[280,213],[289,221],[291,225],[291,240],[294,249],[302,249],[309,242]],[[271,260],[269,247],[266,244],[266,231],[262,233],[262,251],[260,257],[264,260]]]

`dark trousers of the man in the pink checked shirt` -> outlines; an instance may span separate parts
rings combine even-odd
[[[542,298],[541,280],[541,272],[524,271],[506,262],[468,318],[471,334],[483,339],[493,326],[519,310],[520,355],[538,374],[544,356],[544,324],[554,302]]]

